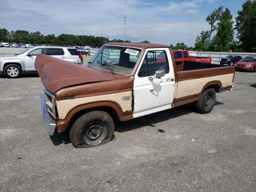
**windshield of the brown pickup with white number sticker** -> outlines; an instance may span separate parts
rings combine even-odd
[[[102,46],[88,62],[93,66],[114,73],[131,74],[141,54],[138,48]]]

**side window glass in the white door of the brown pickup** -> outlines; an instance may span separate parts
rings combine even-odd
[[[169,64],[165,51],[148,51],[138,72],[139,77],[153,76],[155,71],[165,70],[169,73]]]

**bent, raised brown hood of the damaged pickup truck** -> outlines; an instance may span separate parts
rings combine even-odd
[[[44,87],[52,93],[68,86],[129,77],[123,74],[113,75],[109,71],[82,66],[44,54],[38,54],[36,57],[35,68]]]

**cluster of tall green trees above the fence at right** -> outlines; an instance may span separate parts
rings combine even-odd
[[[214,52],[256,52],[256,0],[247,0],[238,11],[233,27],[233,16],[223,6],[206,17],[210,29],[196,37],[195,50]],[[234,40],[235,30],[238,40]],[[212,37],[212,33],[216,34]],[[211,38],[212,37],[212,38]]]

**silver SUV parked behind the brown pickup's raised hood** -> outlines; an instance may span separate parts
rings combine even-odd
[[[75,48],[38,46],[18,54],[0,56],[0,75],[5,74],[8,78],[18,78],[21,74],[36,73],[34,64],[39,53],[83,64],[83,58]]]

